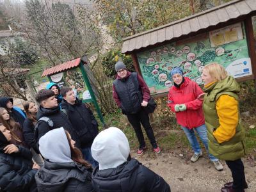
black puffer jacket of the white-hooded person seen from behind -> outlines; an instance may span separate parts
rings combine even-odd
[[[92,184],[97,192],[170,192],[162,177],[152,172],[136,159],[116,168],[93,170]]]

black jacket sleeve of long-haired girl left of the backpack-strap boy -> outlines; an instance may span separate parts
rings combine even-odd
[[[26,118],[24,120],[22,131],[24,140],[29,146],[29,148],[33,148],[39,154],[35,139],[35,125],[29,118]]]

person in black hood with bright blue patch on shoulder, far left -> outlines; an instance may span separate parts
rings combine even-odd
[[[22,109],[13,106],[13,99],[11,97],[1,97],[0,98],[0,107],[6,108],[10,116],[18,122],[20,126],[23,125],[26,118],[26,113]]]

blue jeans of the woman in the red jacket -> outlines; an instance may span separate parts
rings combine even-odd
[[[181,126],[181,128],[185,132],[185,134],[188,138],[188,141],[189,141],[189,143],[190,143],[191,147],[193,148],[196,155],[200,154],[201,148],[200,148],[200,145],[199,145],[198,141],[196,140],[194,130],[197,132],[200,140],[204,143],[204,147],[206,148],[207,153],[208,153],[209,158],[211,159],[211,161],[214,162],[214,161],[219,160],[216,157],[212,156],[212,154],[209,154],[209,151],[208,151],[208,137],[207,137],[207,130],[206,130],[205,124],[201,125],[199,127],[195,127],[194,129],[188,129],[188,128],[182,127],[182,126]]]

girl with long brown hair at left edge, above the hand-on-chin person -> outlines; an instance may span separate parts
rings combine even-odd
[[[28,145],[24,141],[20,124],[18,122],[15,122],[15,120],[10,116],[5,108],[0,108],[0,122],[12,134],[12,139],[10,140],[10,143],[28,148]]]

